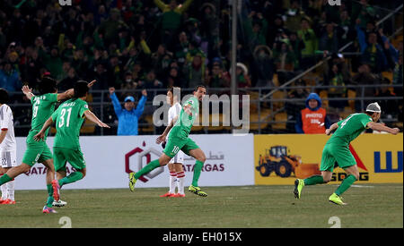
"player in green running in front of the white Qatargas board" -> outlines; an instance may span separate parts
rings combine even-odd
[[[198,117],[199,101],[202,101],[202,98],[206,95],[205,86],[197,86],[193,94],[193,97],[189,98],[182,106],[180,115],[177,115],[165,128],[164,132],[162,132],[162,135],[157,138],[156,143],[162,143],[162,141],[166,140],[167,134],[171,130],[167,144],[162,151],[162,156],[150,162],[148,165],[145,165],[139,172],[129,174],[130,191],[134,191],[135,183],[141,176],[150,173],[157,167],[167,165],[171,158],[175,157],[175,155],[182,150],[185,154],[196,159],[194,175],[192,184],[189,186],[189,191],[202,197],[207,196],[206,192],[201,191],[198,187],[199,176],[206,160],[205,153],[193,140],[189,139],[189,131],[196,117]]]

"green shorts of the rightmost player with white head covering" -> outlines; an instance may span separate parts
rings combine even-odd
[[[336,162],[343,169],[356,165],[355,157],[352,156],[347,146],[338,143],[328,143],[322,150],[320,171],[332,172]]]

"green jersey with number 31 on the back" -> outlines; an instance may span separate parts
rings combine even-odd
[[[69,99],[57,108],[52,114],[52,120],[56,122],[57,128],[53,147],[80,149],[80,128],[86,110],[88,104],[80,98]]]

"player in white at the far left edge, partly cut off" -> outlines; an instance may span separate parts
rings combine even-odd
[[[14,135],[13,111],[6,105],[8,93],[0,89],[0,176],[17,165],[17,143]],[[15,204],[14,181],[1,185],[0,204]]]

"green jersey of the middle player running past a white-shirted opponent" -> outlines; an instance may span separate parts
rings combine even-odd
[[[184,111],[184,106],[190,106],[190,111],[192,115],[188,115]],[[198,98],[191,97],[189,98],[183,105],[180,111],[180,116],[177,119],[177,122],[171,129],[170,136],[178,137],[180,139],[187,139],[189,136],[189,131],[191,131],[192,125],[195,122],[195,119],[198,117],[199,113],[199,102]]]

